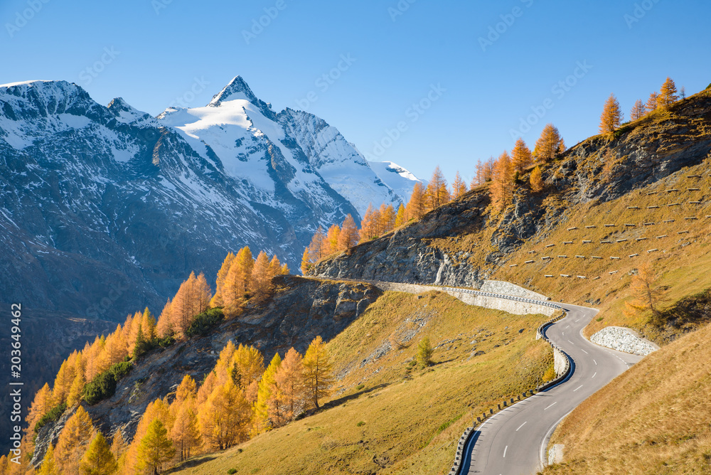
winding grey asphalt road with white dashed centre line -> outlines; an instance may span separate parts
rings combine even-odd
[[[572,359],[567,380],[498,412],[469,439],[461,474],[530,475],[547,461],[545,448],[555,427],[570,411],[641,356],[609,350],[590,343],[582,329],[596,309],[560,304],[565,319],[545,333]]]

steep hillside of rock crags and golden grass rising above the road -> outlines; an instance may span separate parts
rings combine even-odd
[[[494,213],[482,186],[394,233],[327,257],[313,274],[472,287],[506,280],[612,310],[589,331],[624,324],[664,343],[680,329],[628,321],[622,301],[642,262],[662,274],[671,301],[711,288],[703,270],[711,260],[710,152],[707,90],[625,124],[613,139],[573,146],[542,166],[540,193],[523,174],[503,213]]]

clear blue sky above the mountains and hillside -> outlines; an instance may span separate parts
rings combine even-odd
[[[250,31],[261,16],[267,26]],[[120,96],[159,114],[176,97],[205,105],[242,75],[275,110],[308,103],[369,158],[424,177],[439,164],[451,180],[511,149],[510,131],[546,99],[522,134],[531,146],[546,122],[569,146],[595,134],[611,92],[629,111],[667,75],[704,89],[709,18],[707,0],[4,0],[0,83],[67,80],[102,104]],[[482,46],[490,28],[498,38]],[[355,60],[319,81],[341,55]],[[552,89],[566,79],[574,86]],[[421,100],[429,108],[411,109]]]

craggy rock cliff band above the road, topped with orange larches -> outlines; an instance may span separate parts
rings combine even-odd
[[[513,204],[492,213],[487,187],[312,270],[321,277],[479,287],[501,258],[565,220],[578,203],[606,202],[660,181],[711,152],[711,90],[658,110],[616,137],[592,137],[542,166],[545,192],[524,174]]]

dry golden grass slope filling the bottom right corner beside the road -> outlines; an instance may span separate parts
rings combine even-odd
[[[711,473],[711,326],[644,358],[589,397],[552,443],[545,474]]]

